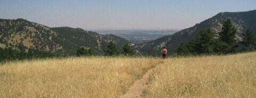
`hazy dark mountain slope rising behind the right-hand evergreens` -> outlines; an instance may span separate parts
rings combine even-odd
[[[141,54],[146,55],[159,55],[162,46],[166,46],[170,54],[177,51],[181,43],[188,43],[190,40],[195,39],[198,32],[205,28],[211,28],[216,32],[221,30],[222,22],[231,19],[233,25],[238,30],[237,38],[242,39],[242,33],[246,29],[251,29],[256,34],[256,10],[247,12],[221,12],[214,17],[207,19],[195,26],[183,29],[172,35],[167,35],[150,42],[135,45]]]

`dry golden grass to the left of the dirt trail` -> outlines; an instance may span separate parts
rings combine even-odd
[[[66,58],[0,65],[0,97],[118,97],[161,60]]]

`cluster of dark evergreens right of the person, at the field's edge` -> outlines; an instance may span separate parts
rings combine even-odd
[[[199,32],[195,40],[184,44],[178,50],[178,55],[202,55],[202,54],[231,54],[244,51],[256,50],[256,38],[252,30],[247,29],[243,33],[242,42],[236,38],[237,29],[228,19],[222,23],[221,31],[218,33],[210,28]]]

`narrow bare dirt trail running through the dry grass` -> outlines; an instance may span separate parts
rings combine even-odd
[[[146,82],[149,80],[149,76],[153,73],[153,69],[149,69],[145,75],[142,76],[141,79],[136,80],[129,88],[129,90],[121,96],[121,98],[134,98],[140,97],[143,89],[147,86]]]

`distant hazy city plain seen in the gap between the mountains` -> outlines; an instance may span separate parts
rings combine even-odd
[[[129,40],[133,44],[142,44],[157,38],[174,34],[180,30],[94,30],[99,34],[113,34]]]

